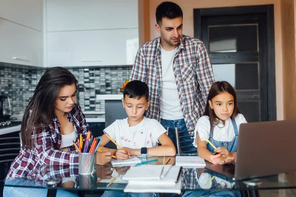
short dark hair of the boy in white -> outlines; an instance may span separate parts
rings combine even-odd
[[[146,101],[149,100],[148,85],[140,80],[130,81],[126,84],[123,90],[123,99],[128,96],[131,99],[137,98],[138,100],[145,97]]]

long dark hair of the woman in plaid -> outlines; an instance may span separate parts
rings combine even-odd
[[[72,84],[75,84],[77,90],[78,81],[66,68],[52,67],[42,75],[24,112],[21,126],[21,142],[24,147],[32,148],[34,127],[46,126],[55,117],[54,104],[60,88]],[[36,128],[36,131],[40,130]]]

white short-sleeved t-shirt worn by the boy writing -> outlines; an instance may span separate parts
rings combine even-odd
[[[167,133],[166,129],[155,119],[146,118],[133,127],[130,127],[127,118],[116,120],[104,132],[122,148],[140,149],[142,147],[158,146],[158,137]],[[118,147],[117,147],[118,148]]]

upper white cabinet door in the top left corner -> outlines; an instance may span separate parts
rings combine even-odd
[[[42,0],[0,0],[0,18],[42,31]]]

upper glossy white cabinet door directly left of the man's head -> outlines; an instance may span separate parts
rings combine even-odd
[[[47,32],[138,28],[138,0],[46,0]]]

